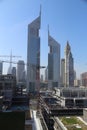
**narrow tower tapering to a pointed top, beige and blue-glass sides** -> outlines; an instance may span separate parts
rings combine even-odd
[[[74,61],[68,41],[65,47],[65,86],[74,86]]]

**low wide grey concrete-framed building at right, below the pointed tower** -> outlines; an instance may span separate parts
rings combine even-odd
[[[70,87],[56,89],[60,106],[67,108],[87,107],[87,88]]]

